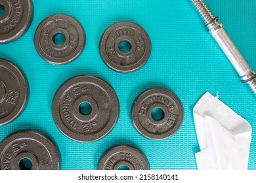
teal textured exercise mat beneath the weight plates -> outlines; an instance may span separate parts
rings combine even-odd
[[[252,69],[256,70],[256,1],[205,0],[205,4],[230,35]],[[26,75],[30,98],[22,115],[0,127],[0,141],[21,129],[41,131],[58,146],[62,169],[96,169],[100,156],[117,144],[135,146],[148,158],[151,169],[197,169],[199,152],[192,109],[203,93],[217,92],[221,101],[249,121],[253,128],[249,169],[256,169],[255,97],[240,82],[236,71],[213,40],[189,0],[180,1],[33,1],[34,17],[28,32],[18,41],[0,44],[0,58],[8,59]],[[53,14],[78,20],[87,35],[83,54],[68,65],[51,65],[37,54],[33,36],[37,25]],[[129,74],[109,69],[99,53],[102,33],[112,24],[129,21],[143,27],[152,42],[150,59],[139,71]],[[65,137],[51,113],[54,94],[66,80],[93,75],[106,80],[116,91],[120,116],[104,139],[80,143]],[[131,123],[131,106],[150,88],[166,88],[184,106],[181,129],[165,141],[145,139]]]

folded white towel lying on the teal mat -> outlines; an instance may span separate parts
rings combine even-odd
[[[207,92],[194,107],[194,122],[198,169],[247,169],[251,125],[244,118]]]

